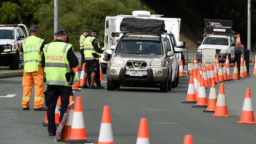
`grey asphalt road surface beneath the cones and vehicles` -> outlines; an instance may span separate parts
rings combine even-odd
[[[252,67],[250,67],[252,70]],[[251,73],[251,72],[250,72]],[[106,75],[104,75],[106,80]],[[33,111],[33,92],[30,111],[22,111],[22,78],[0,79],[0,144],[53,144],[47,127],[42,126],[45,111]],[[181,103],[186,99],[189,77],[171,92],[158,89],[121,87],[120,90],[82,89],[74,96],[82,97],[83,116],[88,140],[98,141],[104,105],[109,105],[115,144],[135,144],[139,120],[147,118],[151,144],[182,144],[184,135],[191,134],[194,144],[254,144],[256,125],[241,125],[240,120],[246,88],[251,88],[252,105],[256,111],[256,76],[224,82],[230,118],[212,117],[205,108]],[[102,83],[106,87],[106,82]],[[217,85],[217,91],[219,84]],[[208,96],[210,89],[206,89]],[[60,142],[59,142],[60,143]]]

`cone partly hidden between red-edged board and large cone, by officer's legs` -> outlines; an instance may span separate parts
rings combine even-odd
[[[73,102],[73,99],[74,99],[73,96],[69,96],[69,104]],[[67,120],[62,129],[61,138],[60,138],[61,141],[69,140],[73,116],[74,116],[74,105],[70,105],[69,113],[67,115]]]

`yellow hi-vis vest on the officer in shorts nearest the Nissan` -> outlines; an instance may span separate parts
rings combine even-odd
[[[87,37],[84,41],[83,45],[83,54],[85,57],[85,60],[90,60],[90,59],[99,59],[99,58],[94,58],[92,53],[96,53],[100,57],[100,53],[96,52],[93,48],[92,41],[96,39],[95,37]],[[96,39],[97,41],[97,39]],[[98,43],[98,41],[97,41]],[[100,48],[100,45],[98,44],[98,47]]]

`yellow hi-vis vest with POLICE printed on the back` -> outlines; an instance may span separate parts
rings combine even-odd
[[[67,52],[72,45],[66,42],[51,42],[43,48],[45,55],[45,76],[48,85],[72,85],[66,79],[66,73],[70,72]],[[77,78],[74,76],[73,84],[76,84]]]

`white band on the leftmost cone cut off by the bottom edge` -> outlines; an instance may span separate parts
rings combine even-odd
[[[98,142],[113,142],[113,133],[110,123],[100,124],[100,136]]]

